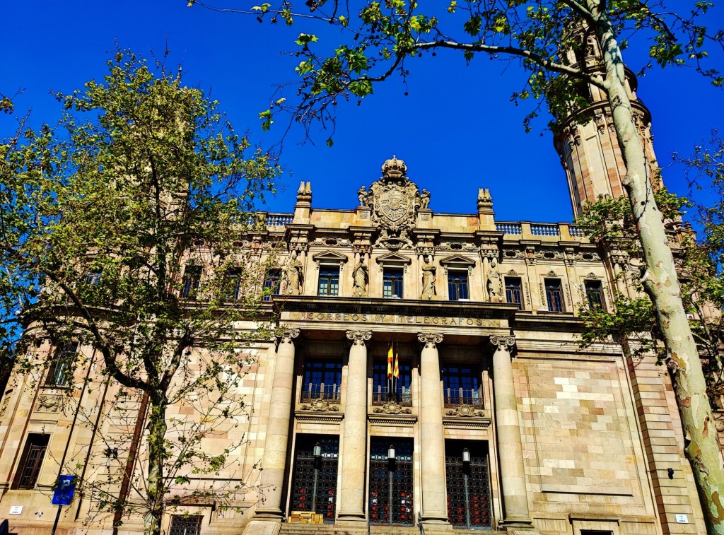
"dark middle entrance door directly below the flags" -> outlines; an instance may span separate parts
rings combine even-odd
[[[372,438],[369,457],[369,521],[411,526],[413,518],[412,439]],[[388,455],[395,448],[395,460]]]

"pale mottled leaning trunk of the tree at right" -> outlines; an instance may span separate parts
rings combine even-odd
[[[624,186],[647,266],[642,282],[656,308],[657,321],[673,364],[673,386],[683,425],[684,451],[694,471],[708,531],[724,535],[724,507],[720,499],[724,463],[717,444],[699,352],[683,308],[681,287],[661,212],[654,201],[644,147],[633,123],[620,49],[602,4],[597,0],[589,0],[588,4],[594,13],[595,31],[604,53],[608,101],[626,162]]]

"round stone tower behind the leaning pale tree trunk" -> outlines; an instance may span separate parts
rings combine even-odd
[[[597,39],[585,28],[576,31],[581,33],[581,42],[586,43],[586,46],[568,51],[566,62],[572,67],[585,64],[589,72],[602,72],[602,54]],[[636,97],[637,85],[636,75],[626,69],[626,90],[644,144],[649,172],[653,175],[657,166],[651,135],[651,113]],[[626,165],[616,138],[607,96],[593,85],[584,85],[581,90],[589,106],[561,117],[560,130],[554,138],[555,148],[568,177],[568,190],[571,193],[573,215],[576,217],[581,215],[586,203],[596,201],[599,195],[618,197],[626,194],[622,183]]]

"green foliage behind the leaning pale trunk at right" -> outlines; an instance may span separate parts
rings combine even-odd
[[[691,161],[689,161],[691,163]],[[689,314],[691,332],[699,349],[707,396],[712,408],[720,408],[724,395],[724,288],[719,261],[724,243],[717,241],[714,232],[705,232],[702,243],[697,243],[696,234],[689,224],[682,226],[683,208],[691,208],[689,199],[669,193],[660,188],[654,193],[665,221],[668,222],[669,243],[675,251],[675,262],[682,288],[683,303]],[[696,206],[697,211],[710,214],[715,208]],[[626,253],[633,264],[633,272],[622,271],[620,277],[628,280],[624,286],[638,292],[637,297],[623,295],[614,290],[615,298],[610,311],[603,308],[581,310],[585,328],[581,335],[581,346],[589,347],[595,342],[604,342],[608,337],[619,342],[628,358],[638,359],[645,355],[657,355],[659,363],[667,364],[676,373],[675,363],[670,361],[661,345],[661,332],[657,327],[656,315],[651,300],[641,295],[641,273],[636,264],[641,261],[641,248],[631,218],[631,206],[626,198],[599,198],[596,203],[585,207],[583,216],[576,220],[581,232],[591,240],[613,245]]]

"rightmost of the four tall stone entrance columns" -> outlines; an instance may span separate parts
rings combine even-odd
[[[498,526],[531,528],[526,473],[523,468],[521,426],[518,423],[518,402],[515,399],[513,365],[508,350],[508,347],[515,345],[515,338],[492,336],[490,343],[497,346],[493,355],[493,389],[504,515],[502,523]]]

